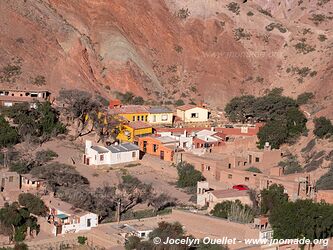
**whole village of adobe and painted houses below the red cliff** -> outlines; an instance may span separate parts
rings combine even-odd
[[[0,107],[29,103],[29,108],[35,109],[38,103],[55,100],[52,98],[46,90],[1,90]],[[52,105],[60,104],[55,101]],[[274,185],[281,185],[290,201],[310,199],[333,204],[333,191],[316,189],[316,180],[320,177],[317,172],[285,174],[279,164],[287,154],[283,149],[274,149],[269,142],[258,149],[257,133],[263,123],[216,125],[216,120],[212,123],[211,112],[205,103],[172,109],[122,104],[121,100],[112,99],[101,111],[101,117],[112,116],[120,121],[113,141],[96,140],[94,134],[88,134],[75,142],[54,138],[36,147],[37,151],[56,152],[53,161],[73,166],[93,188],[118,184],[124,173],[150,183],[158,193],[174,199],[167,213],[124,219],[117,209],[115,220],[100,223],[96,212],[77,208],[57,197],[45,178],[8,170],[6,150],[2,151],[0,205],[8,206],[27,193],[45,203],[47,213],[38,217],[40,232],[26,240],[31,249],[57,249],[61,244],[76,244],[78,237],[86,237],[88,244],[99,249],[123,249],[130,237],[148,240],[162,221],[179,222],[187,234],[196,238],[237,239],[235,244],[228,245],[229,249],[298,249],[297,245],[268,247],[245,243],[246,239],[273,239],[267,216],[237,222],[219,218],[213,212],[223,202],[240,202],[242,206],[252,207],[253,192],[258,198],[260,192]],[[89,119],[86,118],[88,123]],[[179,174],[177,166],[181,164],[190,164],[203,177],[192,193],[174,184]],[[147,204],[134,206],[135,211],[140,209],[147,209]],[[2,245],[12,244],[8,237],[3,236],[1,240]],[[322,249],[327,245],[316,247]]]

